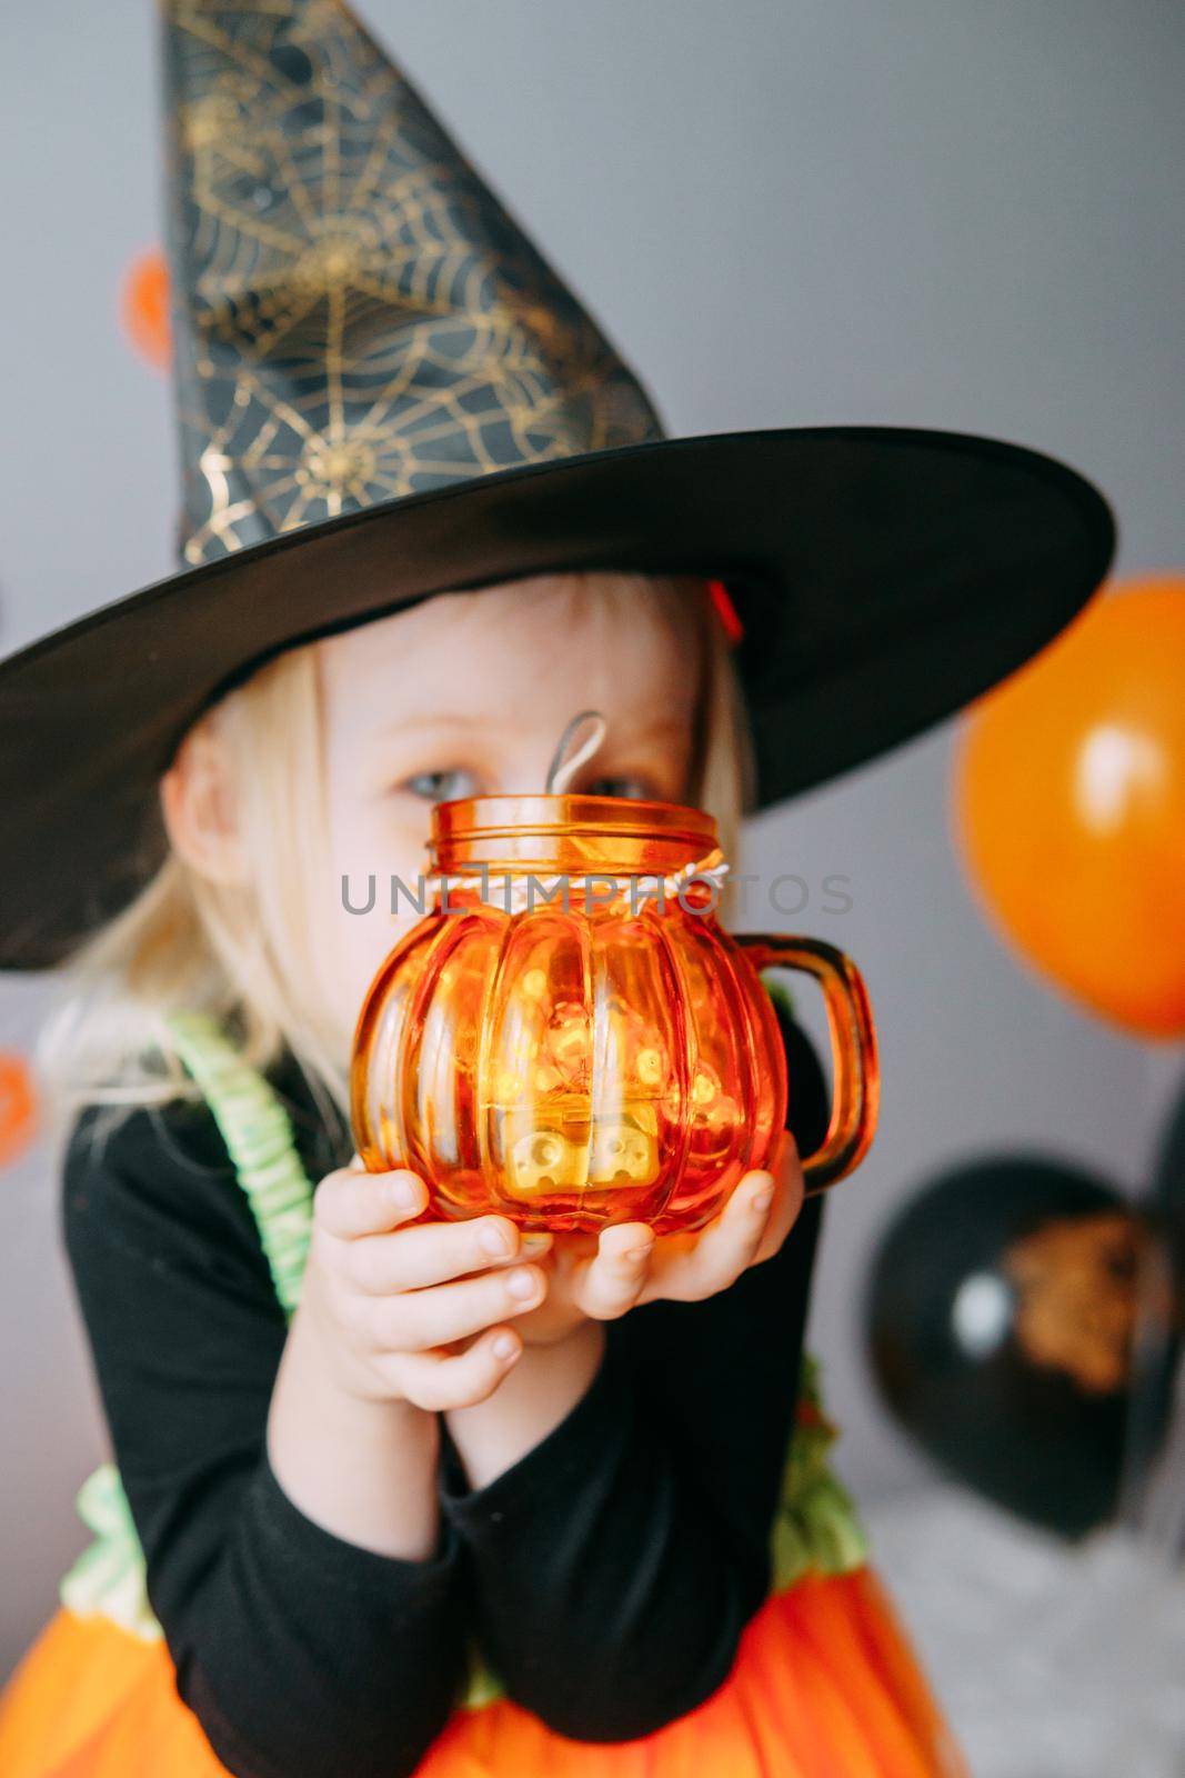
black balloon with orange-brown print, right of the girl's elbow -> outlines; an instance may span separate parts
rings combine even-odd
[[[872,1366],[954,1476],[1078,1538],[1112,1518],[1155,1237],[1105,1181],[1045,1156],[963,1165],[890,1225],[869,1282]]]

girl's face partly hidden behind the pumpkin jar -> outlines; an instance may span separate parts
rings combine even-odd
[[[318,644],[332,955],[322,980],[343,1033],[419,917],[407,896],[391,914],[389,880],[414,893],[426,873],[433,802],[542,791],[581,709],[602,711],[608,733],[569,789],[688,800],[700,679],[689,590],[629,601],[608,581],[545,574],[442,594]],[[355,907],[375,877],[373,912],[343,907],[343,877]]]

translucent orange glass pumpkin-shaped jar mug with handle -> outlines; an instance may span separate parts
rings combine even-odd
[[[437,804],[432,861],[435,905],[375,976],[352,1067],[359,1156],[418,1172],[425,1214],[702,1227],[785,1124],[773,965],[814,974],[828,1010],[808,1189],[860,1163],[878,1099],[860,973],[819,941],[723,930],[709,814],[474,797]]]

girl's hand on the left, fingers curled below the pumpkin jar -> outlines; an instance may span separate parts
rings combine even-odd
[[[428,1412],[485,1401],[522,1351],[508,1317],[538,1307],[549,1234],[506,1216],[402,1227],[426,1204],[416,1173],[329,1173],[313,1197],[300,1314],[332,1380],[366,1401]],[[464,1342],[469,1344],[464,1344]]]

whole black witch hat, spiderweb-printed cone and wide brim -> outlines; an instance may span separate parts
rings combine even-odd
[[[165,855],[190,724],[284,647],[554,569],[721,578],[759,804],[958,709],[1107,571],[1101,496],[938,432],[668,439],[339,0],[163,0],[185,569],[0,663],[0,967]]]

